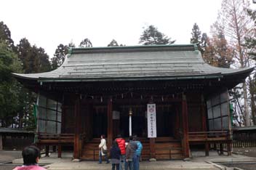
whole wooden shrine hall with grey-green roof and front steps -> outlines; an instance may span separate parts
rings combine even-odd
[[[13,76],[38,94],[39,145],[97,160],[100,134],[108,148],[117,134],[137,134],[143,159],[164,160],[198,145],[231,154],[228,89],[252,70],[212,67],[188,44],[73,48],[56,70]]]

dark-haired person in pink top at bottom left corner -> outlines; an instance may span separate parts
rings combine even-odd
[[[17,166],[13,170],[46,170],[39,166],[40,150],[36,146],[28,146],[23,150],[23,166]]]

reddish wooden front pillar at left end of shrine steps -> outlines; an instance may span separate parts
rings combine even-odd
[[[73,158],[80,158],[80,129],[81,129],[81,118],[80,118],[80,98],[76,96],[75,102],[75,135],[73,141]]]

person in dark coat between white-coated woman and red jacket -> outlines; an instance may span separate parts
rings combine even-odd
[[[119,145],[116,141],[113,141],[113,145],[111,147],[111,163],[112,163],[112,170],[119,170],[119,163],[120,163],[120,155],[121,150],[119,149]]]

